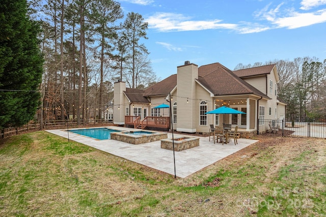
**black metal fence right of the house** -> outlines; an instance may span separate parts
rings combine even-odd
[[[270,136],[326,138],[326,122],[259,120],[259,134]]]

